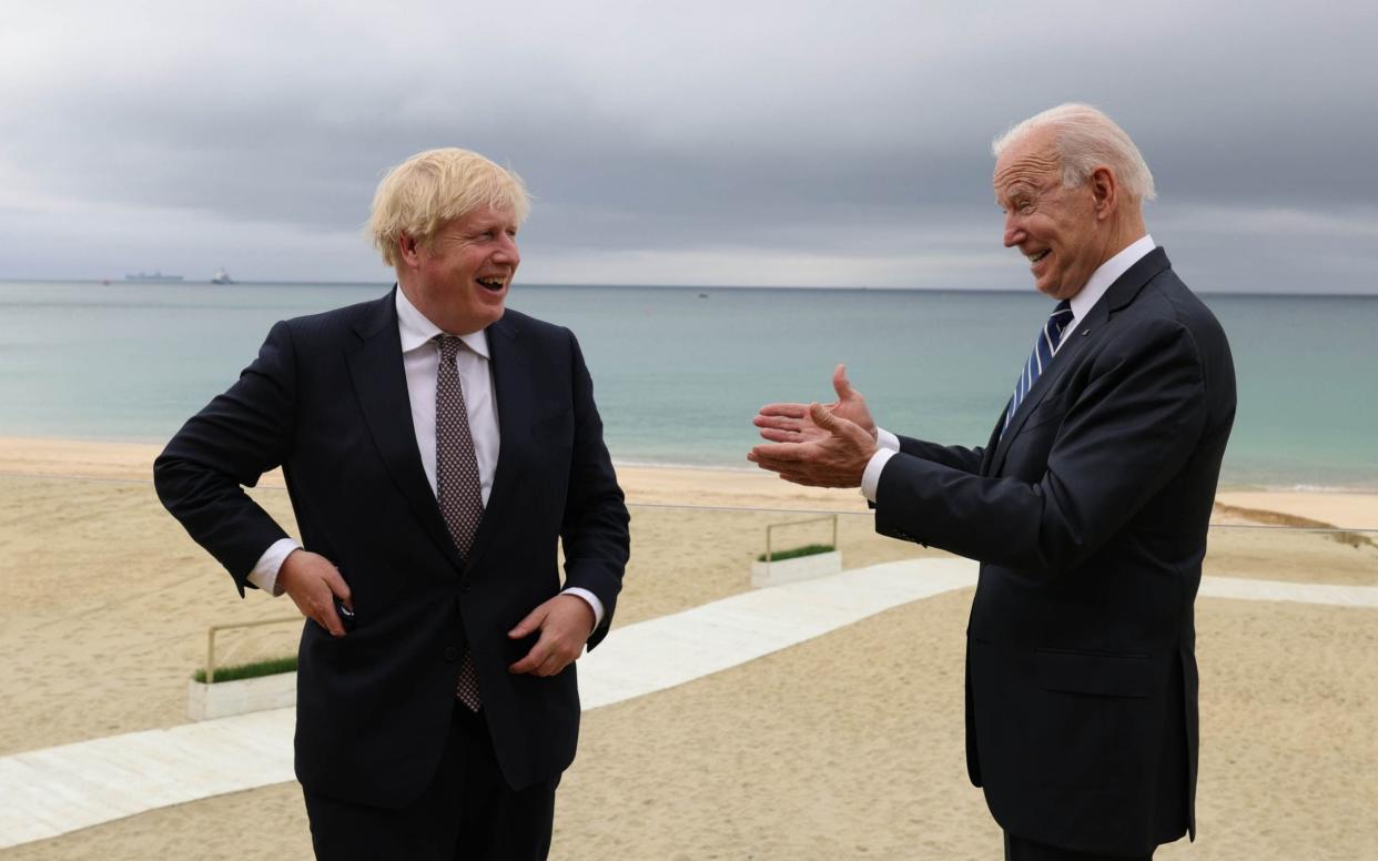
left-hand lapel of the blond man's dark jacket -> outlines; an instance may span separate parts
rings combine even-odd
[[[349,350],[346,361],[373,445],[416,519],[455,568],[459,568],[459,551],[445,529],[435,493],[431,492],[422,456],[416,450],[416,430],[412,424],[412,404],[407,395],[407,372],[402,369],[402,342],[397,332],[393,293],[378,300],[373,313],[354,328],[354,333],[358,343]]]

